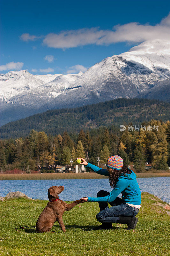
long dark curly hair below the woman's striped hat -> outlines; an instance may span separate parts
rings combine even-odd
[[[113,169],[113,171],[109,173],[109,183],[111,188],[115,187],[116,181],[122,175],[122,173],[124,174],[125,177],[127,176],[126,173],[128,174],[131,173],[131,171],[128,169],[128,166],[126,164],[123,164],[120,170]]]

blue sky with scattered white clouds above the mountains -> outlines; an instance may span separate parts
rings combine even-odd
[[[170,1],[1,0],[0,72],[78,73],[167,36]]]

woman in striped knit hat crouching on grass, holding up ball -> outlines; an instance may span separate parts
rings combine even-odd
[[[124,223],[128,225],[128,229],[134,229],[137,224],[135,216],[139,212],[141,203],[141,192],[137,183],[137,176],[125,164],[120,156],[111,156],[107,160],[107,169],[101,169],[96,165],[87,163],[85,159],[81,164],[90,168],[94,172],[106,175],[109,178],[112,191],[109,193],[100,190],[97,197],[84,197],[82,203],[99,202],[100,212],[96,215],[96,219],[102,223],[99,229],[112,228],[112,223]],[[77,159],[78,159],[77,158]],[[122,193],[122,199],[118,195]],[[108,204],[113,207],[108,207]]]

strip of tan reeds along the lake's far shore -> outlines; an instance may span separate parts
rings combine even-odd
[[[170,177],[170,172],[164,173],[135,173],[137,178]],[[107,179],[107,176],[97,173],[24,173],[0,174],[0,180],[74,180],[74,179]]]

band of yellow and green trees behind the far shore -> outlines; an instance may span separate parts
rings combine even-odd
[[[77,157],[97,164],[106,164],[113,155],[123,158],[125,164],[133,162],[136,172],[144,172],[144,163],[152,163],[156,170],[168,170],[170,165],[170,122],[151,120],[131,125],[120,132],[114,125],[99,127],[79,133],[48,136],[45,132],[32,130],[25,138],[0,140],[0,171],[20,169],[48,169],[52,166],[76,164]]]

